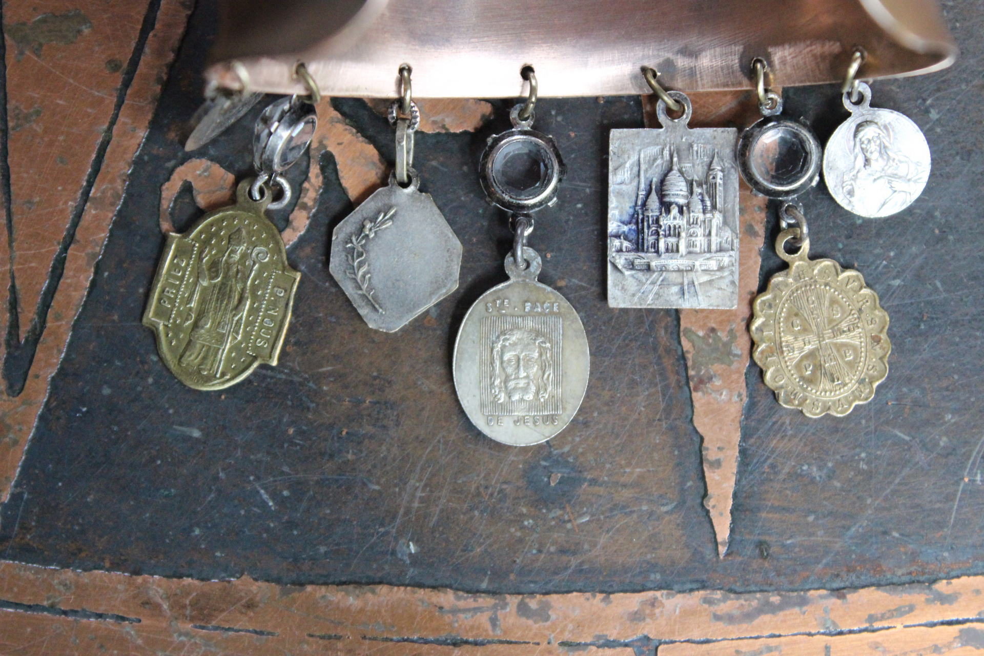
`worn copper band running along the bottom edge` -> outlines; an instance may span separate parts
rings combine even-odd
[[[969,576],[833,592],[464,594],[5,563],[0,645],[28,654],[969,653],[984,647],[982,589]]]

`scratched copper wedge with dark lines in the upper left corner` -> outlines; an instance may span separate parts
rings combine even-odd
[[[95,261],[181,39],[190,5],[54,2],[3,7],[7,238],[12,299],[0,396],[0,498],[82,307]]]

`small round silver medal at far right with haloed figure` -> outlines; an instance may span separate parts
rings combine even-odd
[[[904,114],[872,108],[871,88],[858,85],[861,102],[844,93],[851,117],[837,126],[824,151],[830,196],[860,216],[889,216],[909,207],[929,179],[926,137]]]

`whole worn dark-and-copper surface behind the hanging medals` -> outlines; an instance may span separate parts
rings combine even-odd
[[[964,53],[953,69],[875,86],[876,105],[926,131],[934,171],[923,197],[874,221],[845,214],[822,187],[805,199],[818,255],[862,270],[892,315],[890,378],[846,420],[780,408],[754,365],[745,389],[741,312],[606,307],[606,135],[642,126],[643,103],[544,99],[537,128],[557,137],[571,175],[558,206],[537,217],[532,245],[546,258],[544,280],[582,314],[592,380],[575,424],[514,449],[468,424],[449,373],[464,310],[503,277],[509,234],[482,199],[475,162],[511,101],[426,109],[417,166],[466,257],[459,291],[394,335],[364,327],[325,261],[331,228],[384,179],[392,130],[375,105],[324,101],[310,161],[289,172],[300,201],[273,216],[304,275],[281,364],[195,392],[156,360],[139,317],[161,229],[186,229],[250,172],[260,107],[206,149],[182,149],[214,9],[199,6],[182,41],[192,8],[177,2],[5,5],[0,243],[16,303],[4,325],[0,550],[43,567],[3,566],[0,647],[984,645],[974,626],[984,299],[980,270],[968,267],[984,200],[980,9],[949,10]],[[789,111],[822,137],[840,120],[836,100],[831,88],[786,93]],[[754,109],[740,92],[695,96],[695,106],[700,120],[739,126]],[[764,241],[768,275],[780,266],[772,219],[750,196],[742,209],[744,264]],[[732,539],[719,560],[720,524],[715,538],[703,502],[707,489],[727,490],[727,476],[706,478],[701,453],[714,440],[733,452],[738,409]],[[234,583],[178,580],[244,573]],[[851,590],[871,585],[894,587]],[[693,592],[707,588],[718,591]],[[810,592],[821,588],[840,591]],[[284,604],[294,605],[277,615]]]

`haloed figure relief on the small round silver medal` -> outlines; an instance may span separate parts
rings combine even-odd
[[[887,216],[904,209],[922,191],[928,171],[892,149],[889,132],[875,121],[854,129],[854,167],[844,176],[844,196],[866,216]]]

